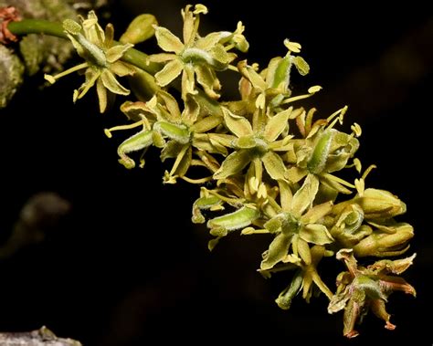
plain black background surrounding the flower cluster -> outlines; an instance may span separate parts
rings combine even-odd
[[[132,16],[150,12],[179,33],[185,4],[119,0],[111,7],[111,22],[121,33]],[[293,73],[293,89],[323,87],[306,107],[326,117],[349,105],[346,124],[356,121],[364,131],[358,157],[365,167],[378,165],[367,184],[407,203],[400,220],[415,227],[409,254],[418,257],[406,278],[417,288],[417,299],[394,294],[388,310],[396,330],[384,330],[382,321],[368,315],[354,341],[343,339],[342,314],[328,315],[322,297],[311,304],[298,298],[289,311],[280,310],[273,299],[289,278],[264,280],[256,272],[268,239],[233,235],[209,253],[206,227],[190,223],[198,188],[163,185],[164,165],[156,151],[148,153],[144,170],[125,170],[116,154],[122,135],[109,140],[102,131],[124,122],[120,111],[100,115],[94,90],[74,105],[79,76],[40,90],[38,75],[27,79],[0,114],[0,237],[5,241],[21,206],[39,191],[58,192],[73,210],[44,243],[0,262],[0,330],[47,325],[85,345],[107,346],[143,345],[154,338],[157,344],[430,345],[433,16],[414,2],[384,8],[364,2],[204,4],[210,12],[202,19],[202,33],[233,30],[243,21],[249,62],[264,67],[284,54],[285,37],[302,44],[312,70],[304,78]],[[152,48],[152,43],[143,47]],[[332,263],[323,276],[333,288],[343,267]]]

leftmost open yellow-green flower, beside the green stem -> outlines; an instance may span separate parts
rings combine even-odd
[[[114,94],[129,95],[130,90],[121,86],[116,76],[123,77],[132,75],[132,66],[120,61],[123,54],[131,48],[132,44],[118,45],[114,42],[114,29],[111,24],[102,30],[98,24],[98,17],[93,11],[89,12],[87,19],[80,17],[79,23],[67,19],[63,27],[70,41],[81,58],[86,62],[59,73],[56,76],[46,75],[50,83],[56,79],[68,75],[71,72],[85,70],[85,82],[74,90],[73,100],[81,99],[91,87],[96,84],[98,99],[100,101],[100,112],[107,108],[107,90]]]

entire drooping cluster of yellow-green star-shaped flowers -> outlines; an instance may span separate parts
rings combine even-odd
[[[148,18],[135,20],[121,44],[113,41],[112,26],[105,32],[100,28],[93,12],[81,18],[81,24],[65,21],[69,39],[86,60],[71,69],[85,69],[86,77],[74,100],[96,84],[103,111],[107,89],[130,93],[116,76],[133,75],[132,90],[140,86],[151,90],[149,97],[134,91],[138,100],[121,106],[132,122],[105,130],[111,137],[113,131],[139,129],[119,146],[122,165],[132,169],[138,159],[135,152],[140,152],[143,167],[144,152],[156,147],[163,162],[172,161],[164,183],[182,179],[200,184],[192,221],[206,223],[213,236],[209,249],[235,231],[269,241],[259,272],[266,278],[280,271],[293,273],[276,299],[281,309],[289,309],[299,293],[309,301],[319,291],[330,299],[330,313],[344,309],[347,337],[357,334],[354,322],[362,320],[368,309],[385,320],[387,329],[393,329],[385,311],[387,296],[392,290],[415,295],[415,290],[388,274],[406,270],[415,255],[379,260],[368,267],[359,267],[355,257],[399,256],[407,251],[413,228],[395,220],[406,212],[406,204],[396,195],[365,188],[365,178],[374,167],[362,173],[355,157],[360,126],[354,123],[350,133],[337,129],[347,107],[325,119],[315,119],[315,109],[301,107],[300,100],[321,87],[312,86],[297,95],[290,89],[292,67],[301,75],[309,72],[309,65],[298,55],[300,44],[286,39],[285,55],[259,68],[237,60],[237,50],[248,50],[242,23],[233,32],[199,34],[200,16],[206,13],[204,5],[185,7],[183,39]],[[161,64],[154,78],[121,61],[132,43],[141,41],[129,35],[137,27],[146,33],[145,38],[154,33],[164,51],[148,58],[147,63]],[[218,72],[224,70],[239,76],[238,100],[219,101]],[[181,83],[176,80],[179,76]],[[47,77],[51,82],[57,78]],[[180,89],[180,97],[174,97],[170,88]],[[339,176],[350,168],[354,168],[352,181]],[[332,258],[343,259],[348,267],[337,278],[335,294],[319,274],[320,266]]]

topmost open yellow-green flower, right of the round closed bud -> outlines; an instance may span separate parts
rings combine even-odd
[[[206,14],[204,5],[195,5],[194,11],[191,5],[185,7],[182,12],[184,17],[184,42],[163,26],[155,26],[155,37],[159,47],[167,53],[155,54],[151,61],[166,63],[164,68],[156,73],[156,82],[164,87],[170,84],[182,73],[182,96],[195,94],[195,79],[203,87],[206,94],[212,98],[219,97],[217,91],[221,89],[216,71],[229,68],[229,64],[236,58],[233,53],[228,53],[232,47],[241,51],[248,49],[248,42],[242,35],[244,26],[238,23],[234,33],[227,31],[215,32],[200,37],[197,33],[199,15]]]

